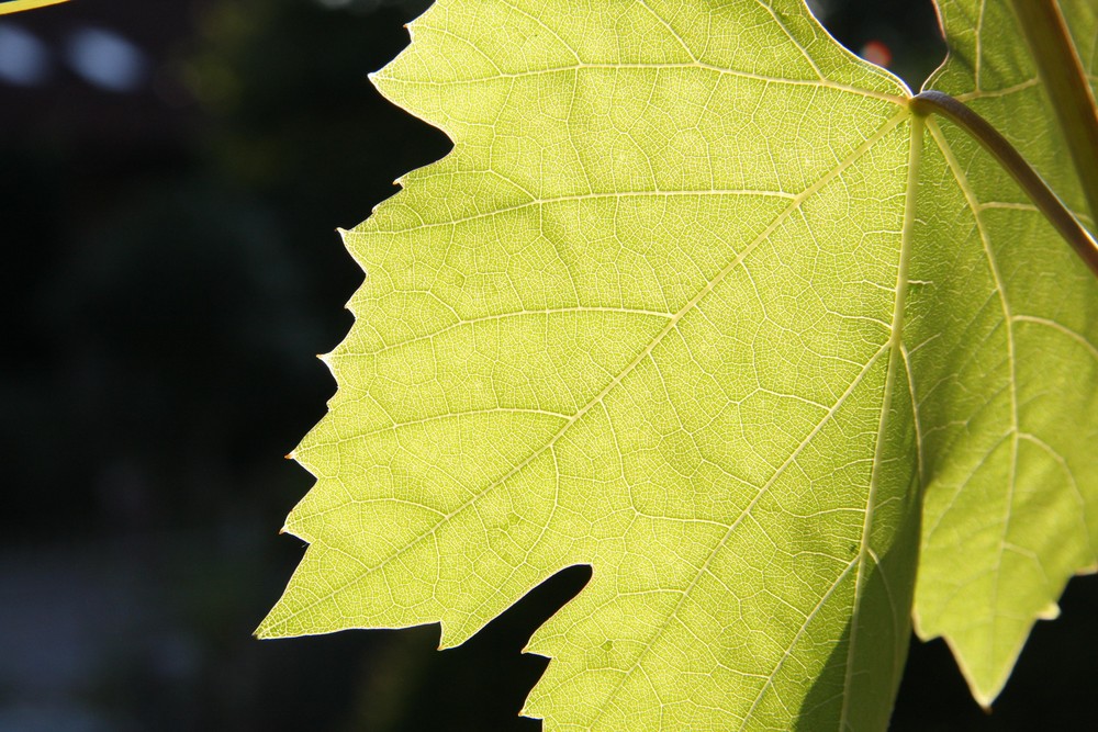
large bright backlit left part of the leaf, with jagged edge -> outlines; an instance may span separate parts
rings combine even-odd
[[[847,674],[843,633],[859,582],[855,570],[869,556],[861,548],[863,531],[872,526],[866,515],[875,510],[866,509],[871,463],[887,421],[881,403],[888,363],[894,363],[886,356],[909,149],[909,114],[897,106],[904,89],[866,65],[850,64],[849,54],[799,3],[741,5],[735,12],[692,3],[600,3],[597,9],[601,16],[547,19],[534,4],[436,5],[413,24],[412,49],[376,77],[391,99],[450,134],[456,148],[405,177],[405,190],[348,236],[368,272],[351,306],[363,325],[356,325],[329,358],[340,393],[332,414],[296,453],[320,481],[288,528],[311,547],[261,632],[299,632],[306,624],[302,619],[314,631],[441,619],[447,645],[468,638],[553,571],[590,562],[594,578],[589,587],[531,639],[531,651],[554,656],[538,688],[575,683],[582,689],[570,691],[569,701],[560,692],[536,692],[527,709],[549,714],[547,724],[642,727],[638,716],[649,712],[636,695],[647,698],[649,691],[638,691],[638,683],[653,684],[657,696],[683,695],[675,712],[664,712],[677,720],[668,722],[672,725],[788,727],[798,708],[810,703],[816,710],[809,717],[856,716],[840,709],[833,689],[841,692],[851,678],[863,676],[861,671]],[[595,32],[585,22],[603,26]],[[615,37],[609,31],[626,22],[639,32],[621,37],[662,43],[603,45]],[[742,27],[754,29],[749,34],[758,41],[771,38],[760,48],[780,47],[783,54],[736,53],[727,43],[710,43],[736,37]],[[526,50],[485,53],[493,42],[475,36],[489,33],[485,29],[492,38],[523,38]],[[535,37],[541,41],[535,44]],[[515,59],[529,58],[545,68],[530,72],[514,66]],[[444,69],[445,79],[428,68]],[[715,97],[732,113],[709,109]],[[806,106],[821,121],[798,122]],[[762,109],[769,110],[769,123],[796,132],[792,144],[763,134]],[[849,124],[852,119],[856,126]],[[505,139],[501,129],[508,133]],[[654,159],[660,165],[652,165]],[[714,159],[728,162],[709,165]],[[879,168],[889,173],[870,191],[865,179]],[[447,204],[439,207],[444,194]],[[870,202],[864,217],[853,213]],[[817,223],[826,221],[834,223]],[[729,228],[727,222],[737,225]],[[863,259],[843,250],[840,243],[852,226],[879,257]],[[544,237],[547,230],[553,236]],[[690,241],[690,249],[677,241]],[[491,262],[508,264],[493,271]],[[777,273],[792,277],[775,279]],[[769,291],[760,289],[757,277],[765,279]],[[837,284],[806,290],[813,278]],[[508,288],[512,279],[525,289]],[[860,279],[878,285],[860,284]],[[516,325],[523,318],[530,327]],[[502,323],[507,330],[478,333],[480,326]],[[548,334],[540,341],[539,330]],[[458,333],[468,337],[441,342]],[[613,353],[607,353],[607,334],[621,342]],[[783,348],[783,334],[800,342]],[[561,353],[560,345],[569,339]],[[752,354],[744,347],[752,339],[776,348]],[[374,352],[393,347],[405,352],[381,369]],[[480,383],[475,369],[460,365],[459,356],[470,352],[495,364],[492,378]],[[800,368],[782,367],[797,361]],[[554,372],[567,378],[554,382]],[[376,384],[380,373],[403,373],[405,383],[382,391],[362,387]],[[436,388],[433,382],[446,386]],[[552,388],[541,388],[550,383]],[[738,396],[729,398],[729,392]],[[716,406],[706,404],[706,394],[717,397]],[[414,421],[430,425],[446,423],[448,413],[511,412],[506,420],[458,418],[477,424],[464,431],[421,432],[385,442],[384,449],[344,447],[370,432],[363,425],[372,421],[377,430],[386,419],[401,429],[401,409],[415,403]],[[775,408],[782,423],[777,433]],[[520,418],[517,409],[539,415]],[[901,453],[896,446],[910,438],[910,419],[895,424],[899,431],[889,433],[889,449]],[[739,444],[727,437],[736,431]],[[528,444],[509,450],[516,439],[508,432],[527,437]],[[865,457],[832,459],[821,451],[824,442],[854,444]],[[462,446],[460,460],[438,457],[445,450],[435,446],[445,444]],[[506,454],[484,446],[503,446]],[[436,457],[426,468],[428,453]],[[386,499],[401,494],[417,506],[435,503],[404,519],[416,521],[411,543],[402,533],[400,542],[376,540],[382,549],[360,547],[358,534],[340,537],[330,525],[380,533],[381,515],[362,519],[363,499],[347,495],[349,481],[330,469],[347,465],[345,473],[352,473],[350,465],[360,465],[368,473],[386,460],[402,474],[415,474],[405,475],[403,484],[388,475],[376,478],[384,484]],[[910,460],[896,462],[912,470]],[[471,482],[460,472],[469,463],[482,466]],[[439,466],[452,480],[449,486],[430,483]],[[805,496],[800,478],[809,474],[819,486],[832,487]],[[889,481],[884,492],[887,506],[901,508],[889,513],[886,506],[890,520],[872,538],[882,555],[904,526],[917,521],[910,500],[897,502],[903,496],[895,495],[897,489],[911,495],[909,483]],[[849,484],[860,486],[856,496],[839,488]],[[685,499],[672,489],[692,485]],[[438,498],[447,494],[446,500]],[[542,507],[531,505],[534,497]],[[523,510],[516,510],[519,505]],[[462,517],[469,523],[451,531],[448,522]],[[485,540],[474,536],[474,522],[482,525]],[[771,551],[793,559],[770,573],[742,565],[738,554],[758,558],[751,547],[759,541],[777,542]],[[415,549],[396,548],[402,544]],[[455,551],[456,545],[463,549]],[[906,552],[907,560],[896,562],[895,571],[910,574],[914,543],[905,545],[899,554]],[[641,554],[638,548],[647,549]],[[359,566],[339,559],[345,554],[367,560],[356,560]],[[389,574],[386,567],[402,563],[406,570]],[[796,578],[798,571],[821,582],[809,586]],[[430,582],[413,577],[415,572]],[[772,597],[752,598],[758,589],[732,579],[737,572],[773,585]],[[324,581],[316,582],[321,573],[339,577],[352,597],[324,589]],[[363,574],[381,578],[367,581]],[[898,574],[896,585],[905,584]],[[684,658],[676,649],[702,631],[709,638],[727,635],[712,617],[717,610],[706,605],[729,592],[742,595],[737,603],[758,620],[782,619],[781,628],[765,631],[773,639],[753,641],[750,633],[731,631],[728,647],[694,660],[722,676],[724,685],[695,680],[683,691],[676,668]],[[451,593],[468,597],[453,599]],[[702,607],[694,594],[706,598]],[[478,599],[469,599],[473,596]],[[630,599],[635,596],[647,599]],[[596,608],[600,599],[609,604]],[[659,628],[673,641],[664,637],[662,644],[638,645],[637,628],[625,618],[642,630]],[[879,699],[871,703],[886,720],[905,649],[906,612],[884,622],[867,613],[866,623],[889,626],[882,632],[900,656],[898,662],[888,652],[889,694],[883,705]],[[629,649],[647,660],[627,669],[628,660],[612,658],[604,663],[605,673],[587,667],[570,675],[576,666],[565,667],[565,661],[586,665],[586,655],[565,658],[562,647],[574,645],[576,633],[596,630],[602,640],[591,652],[609,643],[619,655]],[[749,653],[729,656],[732,646]],[[748,669],[732,669],[729,657]],[[805,664],[830,669],[832,692],[819,703],[810,698],[816,674]],[[606,678],[615,679],[617,691],[610,690],[597,710],[584,709],[587,700],[605,696]],[[738,689],[731,701],[729,688]],[[621,705],[634,716],[619,720],[608,711]]]

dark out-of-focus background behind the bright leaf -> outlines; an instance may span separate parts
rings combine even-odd
[[[361,281],[336,227],[444,155],[367,80],[425,0],[76,0],[0,16],[0,732],[525,730],[558,575],[466,645],[436,627],[259,642],[302,542],[282,455]],[[810,3],[912,87],[929,0]],[[1098,578],[993,714],[914,644],[897,730],[1093,729]]]

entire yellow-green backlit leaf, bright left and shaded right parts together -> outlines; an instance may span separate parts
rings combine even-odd
[[[259,634],[455,645],[590,564],[528,646],[546,730],[881,730],[921,531],[973,576],[923,578],[920,629],[1009,669],[999,629],[1093,562],[1098,304],[1001,171],[802,0],[441,0],[411,31],[374,81],[455,148],[346,235],[310,547]]]

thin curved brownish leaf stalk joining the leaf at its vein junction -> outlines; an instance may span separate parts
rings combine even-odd
[[[978,142],[999,161],[1010,177],[1021,185],[1038,210],[1044,214],[1075,254],[1083,258],[1090,271],[1098,277],[1098,243],[1090,236],[1052,189],[1026,162],[1021,154],[1007,142],[984,117],[940,91],[923,91],[911,98],[911,112],[919,116],[937,113],[957,125]]]

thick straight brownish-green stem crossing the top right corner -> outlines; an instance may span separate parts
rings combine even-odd
[[[1018,24],[1052,98],[1090,216],[1098,221],[1098,106],[1056,0],[1011,0]]]

